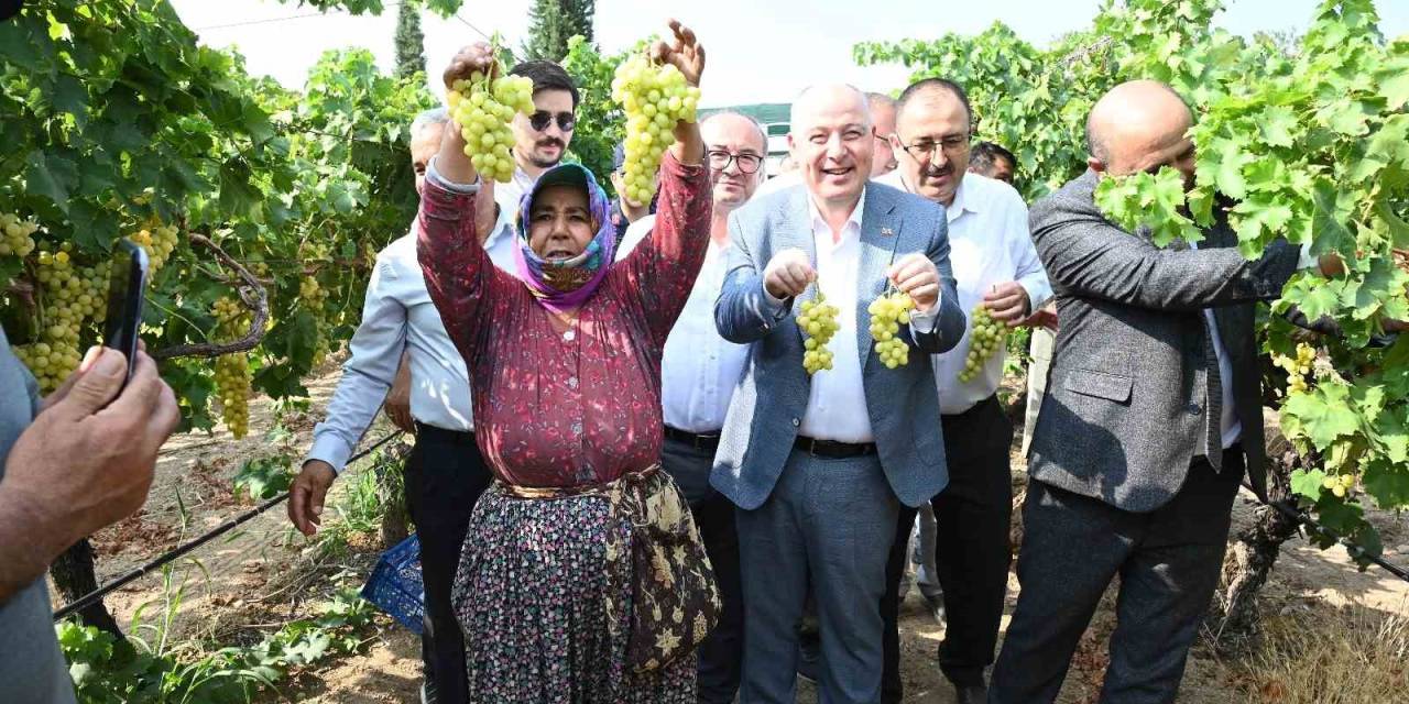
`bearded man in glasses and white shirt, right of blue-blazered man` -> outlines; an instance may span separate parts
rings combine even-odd
[[[1051,297],[1051,284],[1027,232],[1023,199],[1003,182],[968,173],[972,122],[958,84],[926,79],[907,87],[890,138],[900,168],[882,182],[944,206],[960,306],[972,314],[982,304],[995,320],[1016,327]],[[983,670],[993,662],[1007,587],[1013,424],[996,397],[1003,348],[983,362],[976,377],[960,382],[968,352],[965,332],[954,349],[934,358],[950,486],[931,507],[947,620],[940,669],[960,703],[982,703],[988,696]],[[914,511],[902,511],[888,567],[892,583],[883,608],[890,658],[882,701],[900,701],[895,587],[913,520]]]

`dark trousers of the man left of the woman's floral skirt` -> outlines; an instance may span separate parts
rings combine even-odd
[[[451,605],[459,552],[479,494],[492,474],[472,432],[416,424],[416,448],[406,460],[406,503],[421,541],[426,632],[421,656],[438,704],[468,704],[465,638]]]

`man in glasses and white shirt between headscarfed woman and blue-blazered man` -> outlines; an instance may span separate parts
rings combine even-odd
[[[738,113],[714,113],[700,121],[713,187],[710,246],[685,310],[665,341],[661,359],[661,401],[665,445],[661,466],[690,503],[695,524],[714,566],[723,610],[719,624],[699,649],[702,704],[730,704],[738,691],[744,655],[744,604],[738,576],[738,532],[734,504],[709,484],[724,415],[748,360],[748,346],[720,337],[714,301],[728,266],[728,215],[754,196],[762,173],[768,138],[757,120]],[[655,215],[627,228],[617,259],[651,235]]]

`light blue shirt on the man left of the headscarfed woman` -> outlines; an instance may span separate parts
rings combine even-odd
[[[342,472],[382,408],[402,351],[410,352],[411,417],[449,431],[473,429],[469,373],[426,290],[416,259],[416,230],[413,222],[410,234],[376,255],[362,322],[348,344],[351,356],[342,365],[342,379],[328,401],[327,418],[313,428],[307,459],[321,459],[337,472]],[[499,208],[499,221],[485,241],[485,251],[495,266],[514,272],[514,246],[511,211]]]

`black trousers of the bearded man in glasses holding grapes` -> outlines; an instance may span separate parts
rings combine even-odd
[[[950,486],[930,501],[937,524],[934,562],[944,590],[940,670],[958,686],[983,684],[983,670],[993,663],[998,645],[1012,559],[1013,422],[998,397],[991,396],[964,413],[943,415],[941,424]],[[914,514],[913,508],[902,510],[886,563],[886,596],[881,601],[886,628],[883,704],[899,703],[903,694],[898,593]]]

